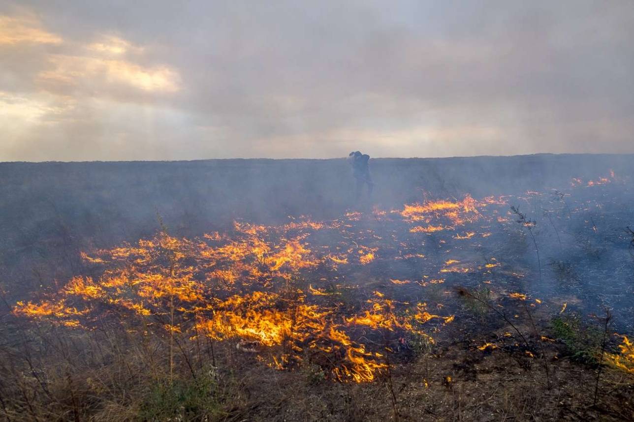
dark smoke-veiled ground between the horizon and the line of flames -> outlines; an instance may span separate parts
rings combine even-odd
[[[157,212],[172,234],[191,237],[225,230],[240,219],[279,224],[288,215],[323,220],[354,208],[397,208],[425,193],[432,199],[548,193],[568,187],[574,177],[588,181],[610,169],[631,178],[632,160],[632,155],[373,159],[375,192],[362,203],[354,200],[343,159],[0,163],[0,268],[4,278],[29,290],[49,279],[68,279],[79,272],[82,250],[151,237],[159,229]]]

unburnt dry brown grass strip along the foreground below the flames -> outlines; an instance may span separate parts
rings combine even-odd
[[[15,323],[12,335],[3,331],[0,348],[0,417],[6,421],[634,418],[631,376],[605,367],[593,406],[597,368],[566,359],[557,342],[543,343],[550,389],[538,358],[512,348],[474,347],[491,333],[470,342],[441,342],[413,357],[395,354],[390,378],[366,384],[335,383],[304,366],[276,371],[234,343],[216,343],[212,357],[211,344],[202,339],[183,342],[170,381],[167,335],[131,333],[114,323],[87,333],[8,323]],[[518,328],[528,332],[529,326]]]

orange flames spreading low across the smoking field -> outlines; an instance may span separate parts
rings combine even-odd
[[[608,180],[613,179],[612,175]],[[232,350],[256,353],[273,368],[317,362],[330,379],[372,381],[387,369],[387,353],[392,353],[391,345],[385,347],[383,342],[391,338],[393,346],[396,339],[419,335],[433,342],[425,331],[454,321],[443,304],[428,308],[415,299],[436,290],[429,287],[424,292],[423,288],[445,282],[438,272],[455,273],[449,281],[479,273],[487,279],[482,283],[491,283],[488,279],[498,272],[493,268],[501,267],[500,262],[486,259],[481,264],[463,264],[473,259],[473,254],[464,252],[470,252],[466,249],[476,242],[458,240],[479,234],[477,241],[485,243],[499,237],[487,240],[491,232],[481,232],[491,230],[496,219],[509,221],[495,209],[506,203],[502,197],[474,200],[467,195],[462,200],[404,205],[389,213],[375,208],[375,219],[349,212],[330,222],[306,217],[277,226],[235,222],[226,233],[194,239],[161,232],[134,244],[82,252],[84,264],[91,269],[86,274],[91,276],[70,278],[40,301],[17,302],[13,314],[71,329],[92,329],[100,319],[120,317],[137,328],[156,327],[159,335],[206,336],[234,343]],[[484,224],[479,224],[481,220]],[[478,224],[468,224],[473,222]],[[375,227],[375,232],[368,224],[382,227]],[[465,227],[456,229],[460,226]],[[401,229],[400,235],[391,230],[394,227]],[[320,243],[324,239],[330,243]],[[428,257],[422,252],[429,252]],[[394,261],[410,258],[415,259]],[[398,273],[386,271],[395,267]],[[400,271],[405,267],[430,275],[404,276]],[[370,279],[363,283],[366,280],[351,277],[355,274]],[[342,289],[355,289],[358,298],[366,301],[351,306]],[[523,293],[508,293],[508,297],[527,300]],[[535,303],[541,301],[535,299]],[[561,312],[565,309],[566,304]],[[478,348],[495,347],[486,343]],[[624,338],[621,354],[610,359],[627,366],[631,355],[631,343]]]

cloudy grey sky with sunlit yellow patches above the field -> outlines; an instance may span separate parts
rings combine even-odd
[[[0,161],[634,153],[634,3],[0,0]]]

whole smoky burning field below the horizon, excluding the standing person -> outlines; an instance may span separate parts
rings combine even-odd
[[[0,163],[0,415],[634,418],[634,157]]]

